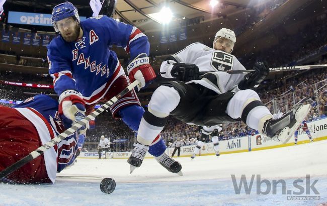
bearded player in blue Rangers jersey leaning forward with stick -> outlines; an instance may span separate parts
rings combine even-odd
[[[129,81],[139,80],[139,90],[156,77],[147,57],[148,39],[136,27],[107,16],[79,21],[77,9],[69,2],[54,7],[52,24],[59,36],[47,47],[49,73],[59,95],[59,113],[70,121],[76,112],[88,115],[98,102],[117,95]],[[113,44],[130,53],[129,77],[116,53],[110,50]],[[113,117],[121,118],[130,129],[138,131],[144,109],[134,89],[116,101],[110,110]],[[180,163],[165,153],[166,145],[159,135],[147,146],[149,153],[166,169],[181,170]]]

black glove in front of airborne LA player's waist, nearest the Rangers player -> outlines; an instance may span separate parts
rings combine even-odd
[[[195,64],[174,63],[171,74],[180,81],[199,79],[199,67]]]

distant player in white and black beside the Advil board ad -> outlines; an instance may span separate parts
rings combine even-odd
[[[204,145],[204,143],[208,143],[209,135],[211,135],[211,141],[213,143],[213,149],[216,152],[216,156],[219,156],[219,139],[218,139],[218,133],[221,132],[222,128],[221,125],[214,125],[214,126],[203,126],[199,127],[201,132],[200,140],[198,141],[196,147],[194,148],[193,155],[191,156],[192,159],[195,158],[197,154],[199,154],[201,147]]]

